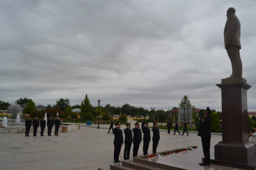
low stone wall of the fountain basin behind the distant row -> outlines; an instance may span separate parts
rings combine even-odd
[[[80,124],[72,124],[72,123],[68,123],[70,125],[68,126],[61,126],[59,128],[59,133],[62,132],[69,132],[69,131],[74,131],[76,129],[80,129]],[[62,127],[64,127],[62,129]],[[54,133],[54,127],[52,129],[52,133]],[[5,134],[5,133],[25,133],[25,127],[24,126],[8,126],[8,127],[0,127],[0,134]],[[40,128],[38,129],[37,133],[40,133]],[[44,133],[47,133],[48,128],[46,127],[44,129]],[[33,133],[33,126],[31,126],[29,133]]]

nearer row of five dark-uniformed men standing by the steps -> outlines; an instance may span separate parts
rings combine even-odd
[[[127,160],[130,158],[130,148],[133,143],[133,156],[138,156],[138,151],[139,151],[139,145],[141,144],[142,141],[142,135],[141,135],[141,129],[139,129],[139,122],[136,122],[134,129],[130,129],[130,123],[126,124],[126,129],[124,129],[124,135],[125,139],[123,138],[123,133],[122,130],[120,129],[120,123],[116,122],[115,123],[115,129],[113,130],[113,133],[115,135],[114,139],[114,163],[119,163],[119,154],[121,151],[121,148],[123,144],[124,146],[124,160]],[[148,122],[145,122],[145,126],[142,129],[143,131],[143,154],[147,155],[147,150],[150,145],[150,128],[148,127]],[[132,132],[133,132],[133,137],[132,137]],[[156,122],[153,124],[152,128],[153,132],[153,153],[156,153],[156,148],[158,146],[158,141],[160,139],[160,133],[159,129],[157,127]]]

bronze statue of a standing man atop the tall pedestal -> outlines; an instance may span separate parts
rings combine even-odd
[[[233,7],[229,7],[227,10],[227,22],[224,29],[224,41],[225,49],[229,55],[232,74],[229,78],[241,78],[242,77],[242,61],[240,58],[240,20],[236,16],[236,10]]]

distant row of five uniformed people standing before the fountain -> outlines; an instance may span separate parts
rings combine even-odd
[[[25,127],[26,127],[25,137],[29,137],[29,131],[31,126],[32,126],[32,120],[30,116],[27,116],[27,120],[25,122]],[[47,120],[48,136],[51,136],[51,131],[53,129],[53,126],[55,126],[55,136],[56,135],[58,136],[59,127],[61,126],[61,121],[59,120],[59,116],[56,117],[55,122],[53,122],[52,116],[50,116],[50,118]],[[41,131],[40,131],[41,136],[44,136],[44,128],[46,127],[46,120],[44,120],[44,116],[40,121],[38,119],[38,116],[35,116],[35,118],[33,119],[33,136],[37,136],[36,133],[39,127],[41,127]]]

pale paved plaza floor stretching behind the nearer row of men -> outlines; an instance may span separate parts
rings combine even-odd
[[[134,124],[134,120],[129,122]],[[81,124],[81,129],[51,137],[47,135],[41,137],[39,132],[37,137],[33,137],[32,134],[30,137],[25,137],[23,133],[1,134],[0,169],[97,169],[109,165],[113,163],[114,135],[107,133],[108,124],[100,124],[100,129],[96,127],[97,124],[91,126]],[[122,130],[125,128],[125,125],[121,126]],[[214,145],[221,139],[221,135],[212,135],[212,156]],[[142,146],[143,143],[140,145],[139,155],[143,154]],[[167,131],[160,130],[157,152],[188,146],[198,146],[201,150],[201,138],[197,133],[190,133],[189,136],[177,135],[177,133],[168,135]],[[150,141],[149,153],[152,153],[152,141]],[[124,146],[119,160],[124,160],[123,154]],[[132,155],[132,148],[130,154]],[[203,156],[202,152],[201,156]],[[201,158],[198,158],[198,161],[201,161]]]

